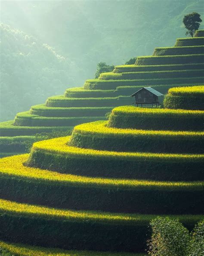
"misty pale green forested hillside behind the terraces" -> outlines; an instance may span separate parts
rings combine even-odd
[[[173,46],[185,37],[182,17],[203,19],[204,10],[195,0],[2,1],[1,9],[1,121],[81,86],[100,61]]]

